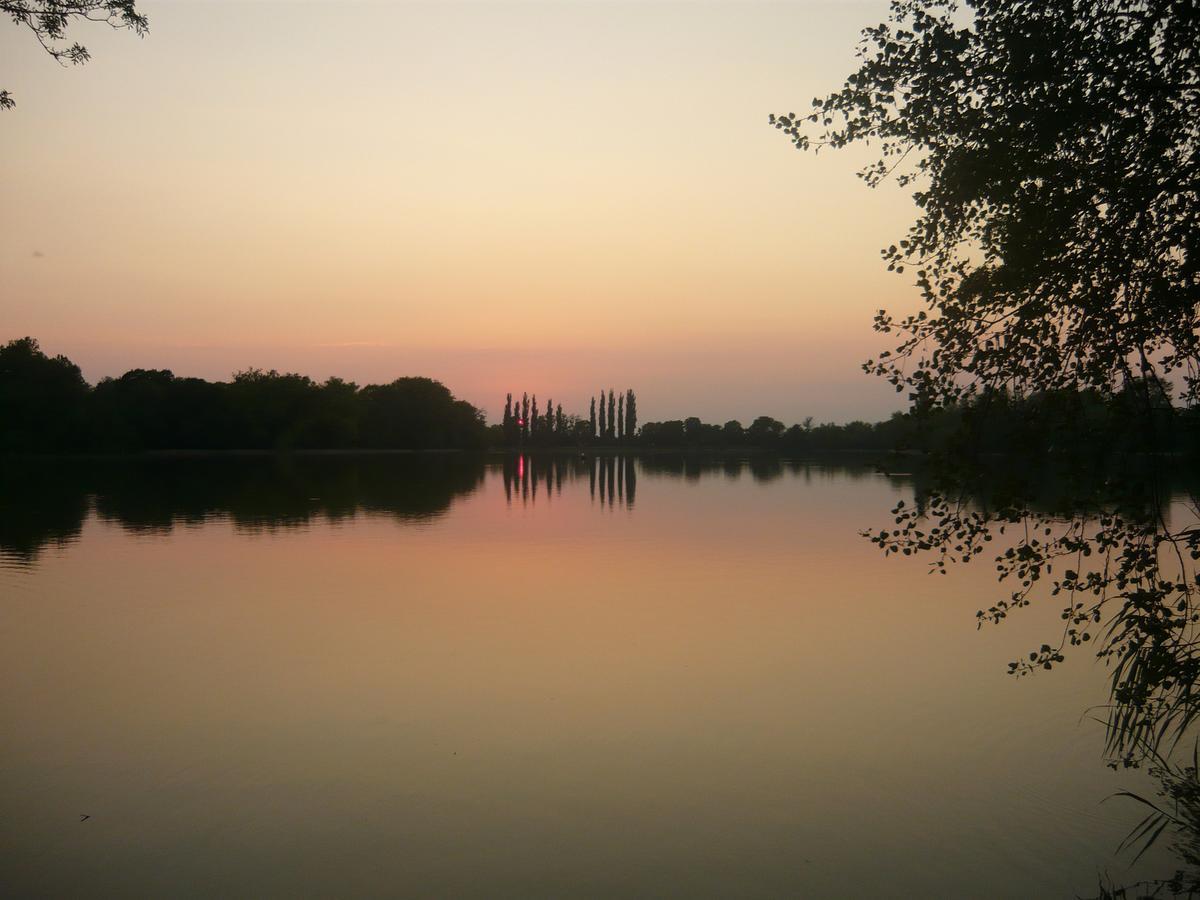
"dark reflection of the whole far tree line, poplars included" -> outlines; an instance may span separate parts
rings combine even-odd
[[[89,514],[134,533],[228,518],[239,529],[293,528],[358,515],[434,520],[498,470],[509,504],[552,503],[587,484],[602,509],[632,510],[638,478],[767,484],[787,476],[875,478],[864,463],[769,455],[458,454],[292,457],[175,457],[22,461],[0,475],[0,554],[29,565],[47,547],[78,539]],[[899,479],[904,481],[905,479]]]

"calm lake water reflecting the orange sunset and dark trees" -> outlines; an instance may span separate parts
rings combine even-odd
[[[1084,654],[1006,664],[857,536],[912,492],[772,461],[7,467],[7,896],[1094,894],[1139,773]],[[80,822],[80,816],[90,818]]]

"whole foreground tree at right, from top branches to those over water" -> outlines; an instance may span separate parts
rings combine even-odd
[[[1098,517],[1094,504],[1046,515],[1026,485],[994,506],[962,500],[979,443],[996,434],[989,413],[1008,419],[1012,398],[1073,398],[1074,409],[1043,410],[1043,431],[1085,424],[1075,416],[1092,392],[1105,406],[1135,400],[1123,428],[1151,449],[1165,446],[1169,378],[1182,378],[1177,400],[1200,400],[1196,47],[1194,0],[976,0],[965,11],[894,0],[888,22],[864,30],[842,90],[808,115],[772,116],[800,149],[877,146],[862,173],[871,186],[893,175],[919,185],[917,221],[883,256],[916,270],[926,308],[899,322],[881,310],[876,330],[900,343],[864,367],[907,389],[923,418],[956,416],[962,436],[938,460],[936,490],[917,509],[898,505],[871,539],[944,569],[983,552],[992,530],[1016,533],[995,557],[1014,589],[979,619],[1003,620],[1048,583],[1070,598],[1062,637],[1009,668],[1051,668],[1099,637],[1094,653],[1112,664],[1109,749],[1127,761],[1200,718],[1189,562],[1200,529],[1157,514],[1158,486],[1133,493],[1134,479]],[[1128,446],[1074,442],[1076,468],[1103,451],[1109,484],[1126,484],[1111,473],[1134,463],[1110,451]],[[1130,515],[1139,504],[1156,515]]]

